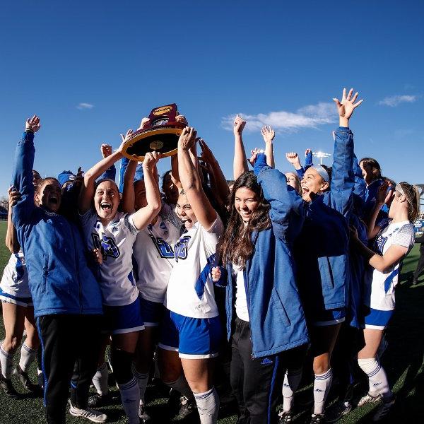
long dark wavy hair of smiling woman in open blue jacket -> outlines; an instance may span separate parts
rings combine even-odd
[[[235,208],[235,194],[237,189],[246,187],[257,195],[259,205],[252,212],[247,225],[243,223],[240,213]],[[245,172],[235,180],[234,187],[228,197],[229,213],[228,224],[224,232],[223,241],[220,245],[220,257],[223,264],[232,263],[240,268],[244,268],[247,259],[252,255],[254,245],[251,240],[251,233],[254,230],[261,231],[271,227],[269,210],[271,206],[264,199],[261,186],[258,184],[254,173]]]

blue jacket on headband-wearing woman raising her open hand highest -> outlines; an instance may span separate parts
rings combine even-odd
[[[352,206],[353,133],[335,131],[331,188],[308,206],[295,243],[298,284],[305,310],[331,310],[348,305],[348,213]]]

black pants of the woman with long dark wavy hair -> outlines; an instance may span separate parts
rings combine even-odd
[[[285,369],[302,367],[306,347],[253,359],[249,322],[236,317],[230,380],[240,408],[238,424],[277,422],[276,408],[281,399]]]

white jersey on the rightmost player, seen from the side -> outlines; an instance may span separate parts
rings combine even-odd
[[[413,224],[409,221],[391,223],[379,232],[373,250],[379,254],[387,252],[392,245],[412,249],[415,242]],[[383,272],[371,269],[372,276],[367,279],[365,287],[365,304],[372,309],[380,311],[394,310],[394,288],[399,278],[399,264],[401,260]]]

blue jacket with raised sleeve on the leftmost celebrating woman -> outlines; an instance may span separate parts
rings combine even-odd
[[[81,235],[63,216],[34,205],[34,134],[16,148],[13,185],[22,194],[12,219],[25,255],[35,317],[102,314],[102,296],[88,269]]]

